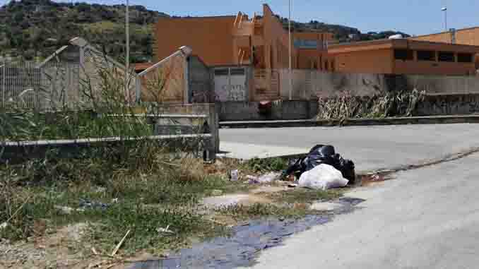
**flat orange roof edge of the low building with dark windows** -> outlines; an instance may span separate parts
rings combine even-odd
[[[405,38],[396,40],[372,40],[363,42],[351,42],[334,44],[328,47],[331,54],[344,52],[358,52],[375,49],[414,49],[414,50],[441,50],[450,52],[479,53],[479,46],[465,44],[450,44],[444,42],[430,42],[423,40],[409,40]]]

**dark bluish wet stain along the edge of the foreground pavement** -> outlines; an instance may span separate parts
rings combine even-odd
[[[254,265],[260,251],[282,245],[293,234],[324,225],[335,214],[350,213],[355,210],[355,205],[363,201],[365,200],[358,198],[340,198],[337,202],[343,206],[333,213],[307,215],[299,220],[252,220],[247,225],[233,227],[230,237],[217,237],[195,244],[191,249],[182,249],[170,258],[134,263],[130,269],[249,267]]]

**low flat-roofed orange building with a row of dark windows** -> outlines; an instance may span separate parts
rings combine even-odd
[[[419,40],[375,40],[328,48],[333,66],[345,73],[472,75],[478,46]]]

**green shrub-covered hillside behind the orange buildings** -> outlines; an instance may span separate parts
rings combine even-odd
[[[0,56],[41,60],[67,44],[71,38],[81,36],[110,56],[124,59],[124,10],[124,5],[71,4],[51,0],[11,1],[0,7]],[[160,17],[168,15],[150,11],[144,6],[130,6],[132,62],[153,58],[153,25]],[[280,20],[287,27],[288,19]],[[356,28],[316,20],[309,23],[293,22],[292,25],[295,30],[333,32],[340,42],[375,40],[403,34],[394,31],[361,33]]]

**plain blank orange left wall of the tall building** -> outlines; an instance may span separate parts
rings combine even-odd
[[[233,63],[234,16],[161,18],[156,23],[155,59],[160,61],[189,46],[208,66]]]

